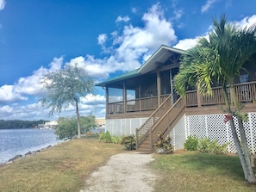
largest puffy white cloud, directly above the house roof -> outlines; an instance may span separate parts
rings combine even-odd
[[[93,77],[104,79],[116,71],[131,71],[140,67],[159,46],[171,46],[177,37],[172,28],[172,23],[167,22],[159,3],[154,4],[142,17],[144,27],[126,25],[122,33],[111,33],[112,46],[106,47],[107,34],[100,34],[98,44],[108,57],[96,59],[93,55],[79,56],[71,59],[69,64],[78,64]]]

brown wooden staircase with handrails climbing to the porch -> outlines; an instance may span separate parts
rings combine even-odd
[[[185,98],[179,98],[172,105],[172,97],[168,96],[159,108],[145,121],[145,123],[136,129],[136,150],[137,152],[152,153],[154,144],[159,139],[158,133],[166,138],[171,133],[173,127],[184,115]]]

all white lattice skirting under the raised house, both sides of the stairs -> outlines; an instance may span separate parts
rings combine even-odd
[[[249,120],[244,122],[247,142],[251,152],[256,152],[256,113],[248,113]],[[106,120],[106,131],[111,135],[129,135],[140,127],[147,118]],[[235,121],[235,126],[237,122]],[[184,115],[174,127],[170,136],[175,149],[183,149],[184,141],[189,135],[196,135],[199,139],[217,139],[220,145],[227,142],[228,152],[236,152],[229,123],[224,123],[224,116],[220,115]]]

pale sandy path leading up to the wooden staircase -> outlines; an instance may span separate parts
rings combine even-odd
[[[147,164],[152,154],[137,152],[112,156],[106,165],[93,172],[80,192],[139,192],[153,191],[156,176]]]

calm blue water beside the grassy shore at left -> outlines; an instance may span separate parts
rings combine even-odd
[[[53,129],[0,129],[0,164],[59,142]]]

